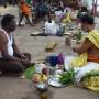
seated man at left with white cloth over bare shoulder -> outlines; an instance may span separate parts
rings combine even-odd
[[[15,31],[15,18],[6,14],[0,29],[0,70],[2,73],[22,73],[30,64],[31,55],[22,54],[11,32]]]

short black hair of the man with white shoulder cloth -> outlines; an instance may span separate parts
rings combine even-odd
[[[2,25],[2,28],[8,26],[8,25],[12,22],[12,20],[13,20],[14,18],[15,18],[15,16],[12,15],[12,14],[6,14],[6,15],[3,15],[3,18],[2,18],[2,20],[1,20],[1,25]]]

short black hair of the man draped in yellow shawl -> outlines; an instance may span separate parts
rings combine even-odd
[[[95,18],[90,13],[86,13],[80,18],[82,23],[95,24]]]

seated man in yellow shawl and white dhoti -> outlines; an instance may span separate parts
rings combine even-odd
[[[99,68],[99,33],[95,30],[95,20],[90,14],[82,15],[80,20],[81,29],[88,34],[79,47],[73,47],[78,56],[65,57],[66,70],[73,66],[77,72],[75,75],[76,82],[80,82],[88,72]]]

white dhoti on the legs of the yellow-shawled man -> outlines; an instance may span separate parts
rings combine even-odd
[[[65,57],[65,69],[66,70],[69,70],[72,68],[72,61],[74,58],[75,58],[75,56],[66,56]],[[99,68],[99,64],[94,63],[94,62],[88,62],[88,64],[82,67],[74,67],[74,70],[77,72],[77,74],[75,75],[75,81],[79,82],[81,80],[81,78],[84,76],[86,76],[86,74],[88,72],[91,72],[96,68]]]

